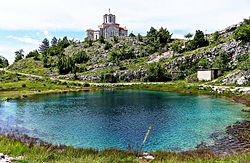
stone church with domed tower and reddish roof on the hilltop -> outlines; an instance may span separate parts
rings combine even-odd
[[[109,14],[103,15],[103,23],[99,26],[98,30],[87,30],[89,40],[98,40],[101,35],[103,35],[104,38],[127,36],[128,30],[126,27],[120,27],[120,24],[116,23],[116,16],[111,14],[109,10]]]

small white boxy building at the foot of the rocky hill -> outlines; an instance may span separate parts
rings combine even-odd
[[[198,70],[197,78],[199,81],[210,81],[218,78],[220,74],[221,71],[216,68],[210,70]]]

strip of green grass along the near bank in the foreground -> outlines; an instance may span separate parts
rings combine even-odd
[[[52,145],[35,145],[21,143],[19,140],[0,136],[0,151],[9,156],[23,156],[20,162],[146,162],[136,157],[136,152],[118,149],[97,151],[94,149],[80,149],[72,147],[55,147]],[[206,149],[186,152],[151,152],[155,160],[149,162],[247,162],[250,153],[215,156]]]

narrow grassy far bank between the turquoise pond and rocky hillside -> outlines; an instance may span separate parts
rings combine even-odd
[[[167,91],[167,92],[176,92],[182,93],[184,95],[208,95],[214,97],[225,97],[227,99],[231,99],[234,102],[244,104],[250,107],[250,87],[248,88],[247,93],[238,92],[237,88],[244,87],[230,87],[225,88],[225,86],[216,86],[217,89],[211,89],[215,86],[209,85],[181,85],[175,86],[179,83],[163,83],[163,82],[153,82],[153,83],[90,83],[91,87],[81,87],[81,88],[64,88],[64,89],[51,89],[51,90],[7,90],[0,91],[2,96],[7,94],[7,96],[12,95],[14,97],[5,97],[1,98],[1,101],[10,101],[10,100],[20,100],[32,98],[33,96],[39,95],[49,95],[49,94],[57,94],[57,93],[68,93],[68,92],[81,92],[81,91],[97,91],[97,90],[105,90],[105,89],[143,89],[143,90],[154,90],[154,91]],[[222,90],[218,89],[219,87]],[[236,88],[236,89],[235,89]]]

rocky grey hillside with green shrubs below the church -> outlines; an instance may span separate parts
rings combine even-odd
[[[198,69],[219,68],[223,71],[223,75],[213,82],[224,85],[249,85],[250,42],[234,37],[234,31],[240,26],[240,24],[233,25],[207,35],[205,37],[207,44],[200,48],[199,46],[193,48],[194,50],[188,46],[195,42],[197,33],[188,42],[168,40],[165,44],[152,37],[140,35],[95,42],[85,40],[71,43],[64,48],[63,54],[50,54],[46,59],[47,66],[43,63],[44,58],[42,59],[40,54],[40,59],[39,57],[36,60],[34,57],[23,59],[11,65],[9,69],[87,82],[181,79],[193,82],[197,81],[195,76]],[[75,63],[75,71],[67,73],[58,71],[57,62],[62,58],[77,56],[80,53],[85,55],[85,59]],[[159,74],[164,77],[157,78]],[[157,79],[154,80],[154,78]]]

